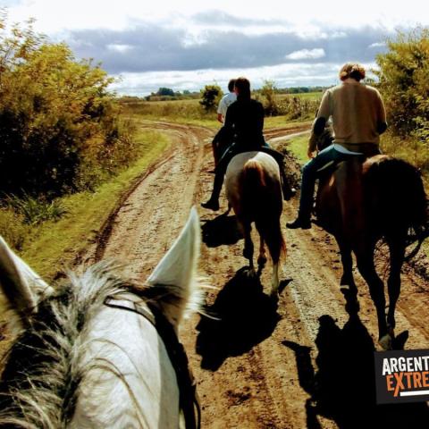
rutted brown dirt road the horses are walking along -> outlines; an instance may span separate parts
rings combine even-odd
[[[274,307],[265,294],[269,265],[260,282],[248,280],[233,217],[199,207],[213,181],[213,133],[178,124],[144,126],[166,133],[172,153],[115,214],[101,253],[119,257],[135,278],[145,280],[190,207],[198,206],[206,242],[201,272],[219,288],[207,296],[208,311],[221,318],[195,315],[181,331],[198,379],[203,427],[428,427],[425,403],[374,406],[374,306],[358,275],[360,309],[346,306],[333,240],[317,227],[283,230],[288,256],[282,264],[284,289]],[[266,136],[277,142],[297,131],[268,130]],[[283,225],[294,217],[296,205],[285,204]],[[408,330],[407,348],[427,348],[429,287],[412,270],[405,271],[396,333]],[[406,341],[406,333],[400,339]]]

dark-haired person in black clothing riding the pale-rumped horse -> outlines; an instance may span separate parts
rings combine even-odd
[[[223,177],[233,156],[241,152],[263,150],[272,155],[279,163],[283,183],[282,154],[266,145],[264,135],[264,107],[257,100],[250,97],[250,82],[246,78],[235,81],[237,101],[232,103],[226,112],[223,125],[225,136],[231,142],[223,157],[215,168],[214,186],[212,196],[201,204],[211,210],[219,210],[219,196],[221,194]]]

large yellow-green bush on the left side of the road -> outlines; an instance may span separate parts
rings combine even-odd
[[[6,27],[0,15],[0,190],[55,198],[129,165],[135,147],[105,71],[31,23]]]

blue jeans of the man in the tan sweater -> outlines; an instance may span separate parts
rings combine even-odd
[[[320,169],[332,164],[338,164],[349,155],[341,154],[333,145],[324,148],[313,159],[307,162],[302,169],[301,197],[299,199],[299,219],[309,221],[313,210],[313,197],[315,194],[315,180]]]

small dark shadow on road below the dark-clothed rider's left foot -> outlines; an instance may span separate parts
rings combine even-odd
[[[243,238],[235,215],[220,214],[210,221],[202,222],[203,241],[209,248],[235,244]]]

